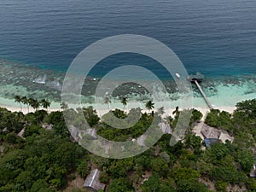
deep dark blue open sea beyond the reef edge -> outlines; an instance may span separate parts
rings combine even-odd
[[[1,0],[0,55],[65,72],[86,46],[132,33],[169,46],[189,73],[207,76],[256,73],[255,0]],[[111,56],[92,74],[129,62],[165,77],[143,56]]]

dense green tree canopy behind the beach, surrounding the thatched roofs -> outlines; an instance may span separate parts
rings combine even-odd
[[[85,178],[93,168],[101,171],[100,181],[109,192],[256,191],[255,178],[248,176],[256,154],[256,100],[239,102],[236,107],[233,114],[212,109],[205,119],[207,125],[228,131],[235,137],[233,143],[219,142],[204,149],[201,137],[192,131],[202,114],[193,109],[182,141],[171,147],[172,136],[165,134],[143,154],[123,160],[105,159],[80,147],[60,111],[25,115],[0,108],[0,192],[85,191],[67,190],[68,182]],[[78,110],[97,134],[113,141],[139,137],[158,115],[142,113],[136,125],[119,130],[106,125],[92,107]],[[110,113],[121,119],[128,115],[119,109]],[[179,113],[174,114],[174,118],[162,119],[172,129]]]

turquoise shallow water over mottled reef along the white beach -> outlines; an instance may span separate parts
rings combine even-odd
[[[61,102],[61,85],[65,73],[56,73],[48,69],[25,66],[13,61],[0,61],[0,97],[13,99],[14,96],[28,96],[33,98],[48,98],[50,101]],[[95,102],[95,89],[100,79],[90,77],[84,82],[83,102]],[[119,80],[109,79],[108,84],[118,84]],[[153,87],[152,97],[139,84],[125,84],[113,91],[113,103],[119,103],[119,97],[128,96],[130,102],[145,102],[153,99],[154,102],[173,102],[178,105],[180,95],[176,84],[172,80],[164,80],[167,93],[158,90],[155,82],[146,80]],[[195,107],[207,108],[199,90],[193,87],[193,102]],[[256,98],[255,75],[225,76],[222,78],[207,78],[201,82],[201,87],[212,102],[213,107],[233,107],[236,102]],[[177,103],[175,102],[177,101]],[[104,103],[103,98],[96,102]],[[4,103],[0,103],[4,105]],[[104,104],[103,104],[104,105]],[[122,108],[121,106],[119,106]],[[172,106],[173,108],[174,106]]]

